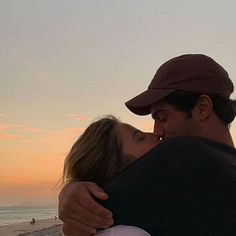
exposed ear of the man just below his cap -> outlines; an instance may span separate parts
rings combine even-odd
[[[199,120],[206,120],[213,112],[213,103],[208,95],[200,95],[192,111]]]

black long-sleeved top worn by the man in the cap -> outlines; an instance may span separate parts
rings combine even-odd
[[[204,138],[166,141],[103,186],[115,225],[151,235],[236,235],[236,150]]]

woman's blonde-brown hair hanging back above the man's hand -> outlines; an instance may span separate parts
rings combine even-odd
[[[65,159],[63,183],[92,181],[101,185],[130,164],[115,132],[119,123],[114,116],[106,116],[87,127]]]

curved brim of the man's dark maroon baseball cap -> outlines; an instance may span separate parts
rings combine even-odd
[[[176,89],[148,89],[138,96],[127,101],[125,105],[136,115],[149,115],[151,113],[151,106],[173,93]]]

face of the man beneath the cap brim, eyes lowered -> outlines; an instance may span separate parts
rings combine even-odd
[[[168,140],[177,136],[198,136],[199,126],[194,115],[176,110],[167,103],[155,103],[151,107],[154,119],[154,134],[157,138]]]

